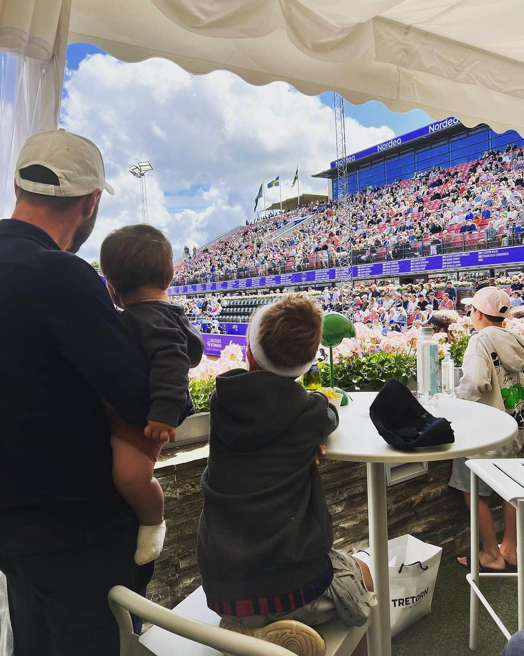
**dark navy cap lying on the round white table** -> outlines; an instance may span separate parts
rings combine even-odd
[[[443,417],[431,415],[398,380],[388,380],[371,407],[369,417],[392,447],[415,449],[452,444],[455,434]]]

